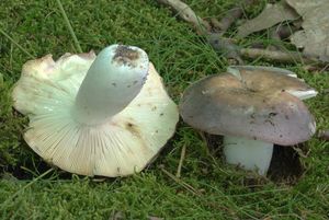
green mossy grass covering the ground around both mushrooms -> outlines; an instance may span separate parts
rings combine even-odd
[[[61,2],[83,51],[99,51],[113,43],[144,48],[175,102],[191,82],[227,67],[225,58],[188,24],[155,1]],[[237,1],[186,2],[202,16],[220,16]],[[247,15],[256,15],[264,3],[248,9]],[[29,121],[12,111],[10,92],[26,60],[76,53],[76,42],[56,1],[4,0],[0,8],[0,73],[4,81],[0,84],[0,219],[329,218],[329,143],[316,137],[307,142],[310,152],[300,159],[305,173],[295,185],[273,183],[226,165],[220,157],[211,155],[198,134],[183,123],[157,161],[140,174],[104,180],[49,170],[22,139]],[[266,33],[241,44],[257,40],[271,44]],[[249,63],[273,65],[263,60]],[[296,71],[319,91],[307,104],[318,127],[328,128],[329,74],[307,72],[298,63],[281,67]],[[161,169],[175,174],[183,146],[181,178],[174,181]]]

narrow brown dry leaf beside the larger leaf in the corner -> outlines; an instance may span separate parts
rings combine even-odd
[[[238,27],[237,37],[246,37],[253,32],[259,32],[284,21],[298,19],[299,15],[284,1],[268,4],[268,7],[254,19],[247,21]]]

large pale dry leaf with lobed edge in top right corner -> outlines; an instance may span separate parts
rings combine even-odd
[[[329,1],[286,0],[303,16],[303,31],[296,32],[292,43],[304,48],[306,56],[329,61]]]

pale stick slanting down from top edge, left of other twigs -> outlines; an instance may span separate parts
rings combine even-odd
[[[197,33],[204,33],[204,28],[205,31],[211,31],[211,25],[206,21],[197,16],[195,12],[184,2],[180,0],[158,0],[158,2],[164,5],[169,5],[175,12],[178,12],[179,16],[185,22],[192,24]]]

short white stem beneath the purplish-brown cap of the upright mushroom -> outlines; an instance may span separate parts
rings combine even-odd
[[[224,154],[227,163],[245,170],[257,170],[265,175],[273,154],[273,143],[242,137],[224,136]]]

